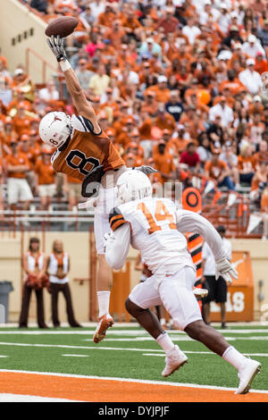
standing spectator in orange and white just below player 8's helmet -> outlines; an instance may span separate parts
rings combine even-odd
[[[44,147],[41,151],[41,159],[35,165],[40,210],[48,210],[55,195],[55,172],[51,164],[51,155],[51,149]]]

